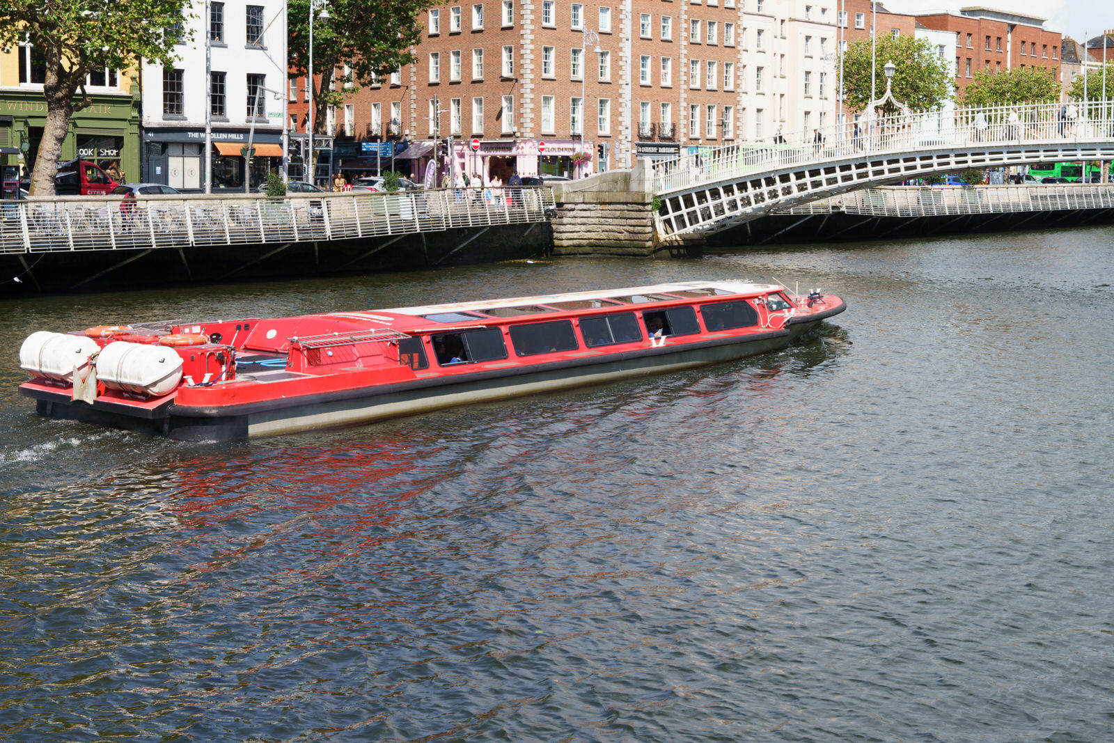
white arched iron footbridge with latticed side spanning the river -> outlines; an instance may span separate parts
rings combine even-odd
[[[863,118],[701,148],[654,164],[665,242],[701,237],[850,190],[969,168],[1114,159],[1114,114],[1101,104],[1025,104]]]

